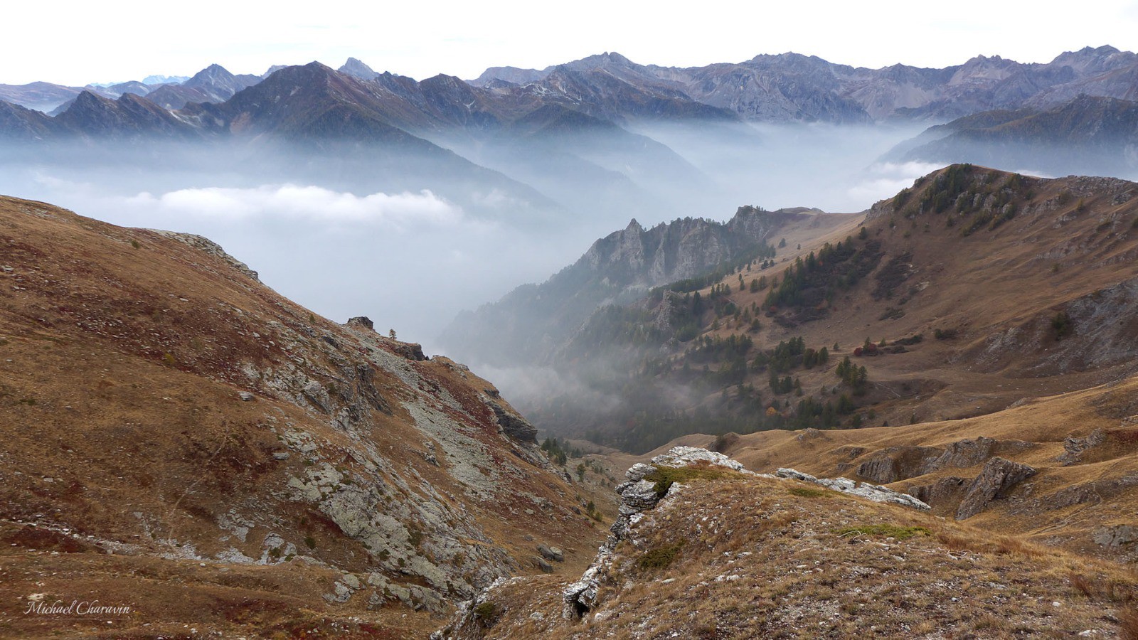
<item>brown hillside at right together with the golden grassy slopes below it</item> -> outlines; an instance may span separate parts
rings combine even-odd
[[[869,380],[865,395],[853,395],[855,416],[873,428],[691,435],[642,457],[609,458],[627,468],[676,444],[712,446],[757,471],[793,467],[887,484],[941,516],[1138,558],[1127,533],[1133,527],[1138,540],[1135,195],[1138,184],[1122,180],[1042,180],[967,165],[925,177],[869,211],[864,239],[857,224],[849,229],[856,246],[879,244],[873,271],[808,309],[816,319],[803,319],[801,307],[767,307],[752,334],[764,347],[794,336],[808,346],[838,343],[826,366],[791,372],[807,395],[830,401],[850,393],[834,375],[838,361],[867,337],[884,339],[885,353],[851,358]],[[802,239],[801,249],[794,240],[780,252],[778,269],[744,270],[744,281],[783,279],[795,257],[849,241],[842,231]],[[761,306],[768,294],[736,288],[732,300]],[[885,317],[889,310],[896,313]],[[728,317],[712,334],[739,334],[743,325]],[[923,339],[902,340],[917,335]],[[800,396],[772,393],[765,374],[749,383],[765,405],[793,418]],[[989,465],[996,473],[995,458],[1036,474],[1000,487],[979,511],[962,511],[972,483]]]

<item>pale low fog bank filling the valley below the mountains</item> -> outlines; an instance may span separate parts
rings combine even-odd
[[[642,125],[455,143],[431,157],[267,143],[6,146],[0,194],[200,233],[315,312],[369,315],[437,353],[460,311],[545,280],[632,218],[726,220],[744,204],[861,211],[934,169],[875,164],[912,134]],[[508,397],[541,393],[508,376],[502,386]]]

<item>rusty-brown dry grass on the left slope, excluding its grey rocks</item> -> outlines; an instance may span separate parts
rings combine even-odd
[[[493,388],[488,381],[435,359],[410,364],[423,380],[412,388],[361,356],[369,347],[398,352],[410,345],[361,337],[318,318],[220,257],[152,231],[0,198],[0,571],[14,572],[0,580],[0,637],[86,633],[82,621],[18,615],[31,593],[76,597],[79,590],[137,605],[142,617],[107,637],[145,634],[142,624],[152,633],[176,626],[171,634],[184,634],[183,624],[197,624],[201,634],[226,635],[271,635],[280,624],[278,631],[296,637],[302,609],[324,633],[354,616],[376,631],[339,632],[424,635],[435,625],[428,614],[369,606],[374,589],[345,604],[325,602],[338,572],[308,571],[299,558],[256,568],[218,559],[230,549],[259,558],[273,532],[300,555],[361,580],[379,568],[371,550],[316,504],[292,499],[289,478],[303,477],[318,457],[355,477],[371,477],[361,471],[365,459],[389,460],[409,482],[391,483],[387,500],[432,497],[440,509],[461,507],[461,517],[477,523],[479,540],[455,542],[504,549],[519,572],[538,571],[529,560],[545,543],[566,552],[560,571],[579,574],[605,535],[572,511],[576,487],[536,466],[518,466],[480,400]],[[335,355],[321,346],[324,336],[339,345]],[[299,367],[332,394],[343,384],[333,360],[369,367],[390,412],[371,411],[358,433],[348,433],[246,372]],[[254,392],[255,400],[242,402],[240,391]],[[436,466],[422,454],[430,438],[402,402],[444,392],[461,408],[446,410],[487,446],[489,460],[517,469],[503,474],[493,499],[471,497],[445,456]],[[286,432],[312,436],[315,450],[275,458],[286,452]],[[612,492],[597,492],[595,501],[611,517]],[[538,503],[549,509],[535,509]],[[256,519],[247,540],[220,528],[231,510]],[[454,517],[444,516],[442,526],[455,526],[447,520]],[[28,534],[28,522],[65,535]],[[10,536],[8,526],[15,527]],[[119,544],[134,559],[106,553]],[[432,555],[438,545],[423,547],[424,558],[444,561]],[[182,552],[207,559],[206,567],[159,557]],[[472,579],[478,567],[464,561]],[[396,583],[421,581],[390,573]]]

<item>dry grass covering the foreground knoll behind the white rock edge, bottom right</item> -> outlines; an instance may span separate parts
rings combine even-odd
[[[553,585],[527,579],[492,593],[512,613],[486,637],[1112,637],[1132,624],[1128,567],[848,495],[819,509],[786,484],[685,485],[617,548],[584,620],[561,618]],[[667,568],[640,565],[678,541]]]

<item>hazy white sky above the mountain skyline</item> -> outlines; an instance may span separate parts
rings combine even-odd
[[[976,54],[1046,61],[1086,46],[1138,48],[1138,3],[1125,0],[57,0],[3,13],[8,84],[190,75],[211,63],[259,74],[312,60],[338,67],[348,56],[418,79],[469,79],[487,66],[539,68],[602,51],[674,66],[797,51],[855,66],[941,67]]]

